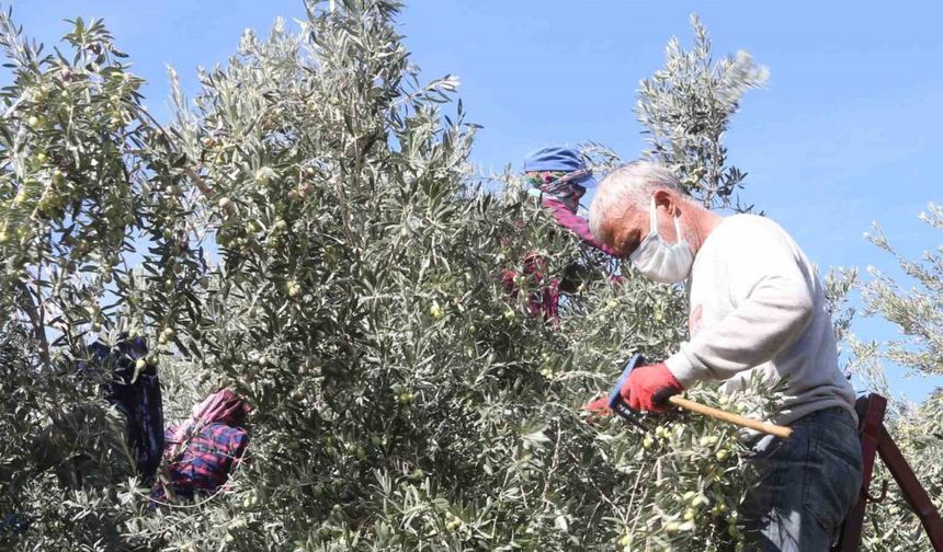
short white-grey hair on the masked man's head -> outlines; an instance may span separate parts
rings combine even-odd
[[[600,183],[590,205],[590,231],[600,239],[602,225],[614,211],[632,207],[647,209],[657,189],[670,189],[689,197],[681,182],[664,166],[649,161],[633,161],[617,166]]]

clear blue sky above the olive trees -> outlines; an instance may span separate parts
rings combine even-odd
[[[943,203],[943,3],[627,0],[418,0],[400,19],[427,79],[462,78],[469,119],[484,125],[474,160],[519,166],[552,142],[592,139],[630,159],[644,147],[633,106],[639,79],[662,62],[671,36],[689,43],[697,12],[717,54],[746,49],[768,66],[728,134],[749,172],[742,197],[783,225],[820,266],[888,268],[862,232],[877,220],[919,255],[941,243],[917,220]],[[868,5],[874,4],[874,5]],[[3,2],[3,8],[10,2]],[[224,62],[246,27],[300,18],[300,0],[31,0],[13,2],[29,35],[50,45],[75,15],[104,18],[148,104],[167,118],[166,65],[195,90],[195,68]],[[861,320],[863,338],[895,336]],[[931,382],[891,367],[894,388],[921,399]],[[935,383],[939,383],[938,379]]]

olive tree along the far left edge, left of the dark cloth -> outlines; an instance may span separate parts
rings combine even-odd
[[[42,520],[31,529],[42,542],[109,545],[123,540],[105,505],[127,488],[129,455],[105,381],[79,365],[91,335],[117,337],[114,314],[134,300],[123,257],[135,239],[168,262],[186,248],[164,238],[172,196],[150,188],[170,156],[143,81],[100,21],[70,25],[61,48],[44,53],[0,14],[11,77],[0,92],[0,509]]]

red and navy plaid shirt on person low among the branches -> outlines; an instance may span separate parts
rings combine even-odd
[[[229,474],[243,460],[249,447],[249,434],[241,427],[214,422],[203,426],[185,442],[173,442],[177,428],[167,430],[168,447],[183,446],[183,452],[171,462],[151,492],[151,499],[167,502],[192,499],[197,494],[213,494],[226,483]],[[163,480],[169,480],[168,493]]]

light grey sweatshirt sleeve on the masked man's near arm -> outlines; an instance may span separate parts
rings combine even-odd
[[[774,358],[805,331],[815,308],[811,278],[800,253],[777,228],[751,225],[727,233],[716,263],[734,310],[666,360],[678,381],[726,380]]]

